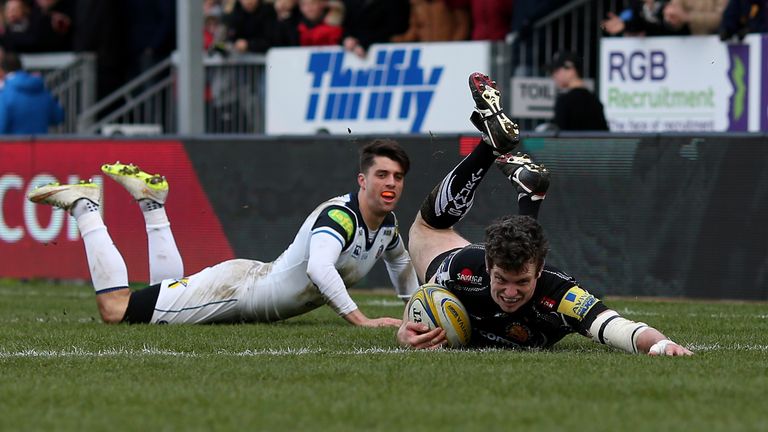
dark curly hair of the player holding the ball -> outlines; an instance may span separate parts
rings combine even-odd
[[[549,242],[536,219],[530,216],[506,216],[485,229],[485,260],[506,271],[522,271],[528,263],[536,269],[544,265]]]

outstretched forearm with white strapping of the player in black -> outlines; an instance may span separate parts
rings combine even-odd
[[[589,327],[595,342],[629,353],[655,356],[693,355],[693,352],[667,339],[661,332],[643,322],[628,320],[612,309],[597,316]]]

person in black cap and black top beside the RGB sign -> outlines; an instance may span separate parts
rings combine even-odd
[[[603,104],[586,88],[581,76],[581,59],[574,53],[557,53],[549,66],[555,85],[561,90],[555,99],[553,123],[559,130],[607,131]]]

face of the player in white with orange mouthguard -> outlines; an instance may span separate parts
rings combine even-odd
[[[405,173],[399,163],[384,156],[373,158],[373,165],[358,176],[367,207],[379,215],[395,209],[403,192]]]

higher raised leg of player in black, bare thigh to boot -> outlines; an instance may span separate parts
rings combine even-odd
[[[408,250],[422,282],[438,255],[469,244],[452,227],[472,208],[475,191],[496,158],[514,150],[519,142],[518,127],[504,114],[496,83],[473,73],[469,89],[475,101],[470,120],[483,133],[483,139],[432,190],[411,225]]]

